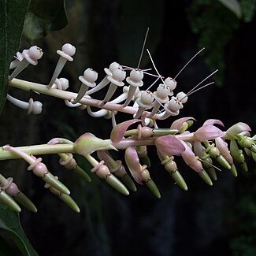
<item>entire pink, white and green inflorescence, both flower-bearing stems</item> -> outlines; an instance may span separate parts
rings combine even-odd
[[[190,61],[202,50],[195,54]],[[73,61],[72,57],[76,54],[76,48],[66,43],[61,50],[57,50],[57,53],[59,59],[54,74],[50,83],[44,85],[16,78],[29,64],[37,65],[38,60],[43,57],[43,50],[32,46],[28,50],[23,50],[22,53],[18,52],[15,60],[10,64],[10,69],[13,69],[13,72],[9,75],[9,86],[61,98],[65,100],[67,106],[83,109],[92,117],[111,119],[113,129],[109,139],[100,139],[91,133],[85,133],[75,142],[54,138],[43,145],[29,147],[6,145],[0,148],[0,160],[23,158],[28,162],[28,170],[39,176],[45,182],[46,188],[76,212],[80,212],[80,209],[70,197],[69,188],[58,180],[58,176],[50,173],[46,165],[43,164],[42,158],[35,156],[58,154],[61,165],[72,170],[83,180],[90,182],[90,176],[77,165],[73,158],[73,154],[80,154],[91,164],[91,173],[95,173],[121,194],[129,195],[128,190],[136,191],[135,183],[137,183],[145,184],[158,198],[161,197],[160,192],[148,170],[150,159],[147,155],[147,147],[156,149],[161,165],[172,176],[175,184],[184,191],[187,190],[187,184],[176,165],[176,158],[183,158],[184,162],[210,186],[213,185],[214,180],[217,180],[216,169],[220,170],[213,165],[214,161],[217,161],[224,169],[228,169],[233,176],[237,176],[235,162],[247,172],[244,153],[256,161],[256,136],[250,137],[250,127],[247,124],[239,122],[226,131],[222,131],[217,126],[224,127],[224,124],[219,120],[210,119],[205,121],[202,127],[195,132],[189,132],[188,128],[191,127],[195,119],[182,117],[173,121],[169,128],[158,128],[158,121],[177,116],[180,113],[180,109],[183,109],[189,95],[212,84],[213,82],[202,85],[216,71],[198,83],[191,91],[187,93],[181,91],[174,96],[176,77],[190,61],[184,65],[175,78],[165,78],[158,72],[150,52],[147,50],[155,73],[151,73],[151,69],[139,69],[139,65],[137,68],[131,68],[113,62],[109,68],[104,69],[106,76],[100,82],[96,82],[98,73],[95,70],[85,69],[83,76],[79,76],[80,90],[78,93],[74,93],[67,91],[69,80],[58,77],[65,63]],[[141,57],[139,63],[140,60]],[[145,75],[153,77],[154,82],[146,90],[141,90]],[[156,91],[152,91],[157,83]],[[92,97],[95,92],[104,87],[107,87],[107,90],[104,89],[106,91],[104,98]],[[113,98],[118,91],[121,91],[121,94],[117,98]],[[28,102],[23,102],[7,95],[7,99],[14,105],[27,109],[28,114],[42,112],[43,104],[34,102],[32,98]],[[98,108],[98,110],[93,111],[91,107]],[[132,117],[128,121],[117,124],[115,118],[117,113],[128,113]],[[130,128],[131,126],[134,128]],[[113,158],[110,150],[124,150],[126,167],[121,160]],[[132,177],[129,176],[127,170]],[[0,184],[0,200],[12,210],[20,212],[20,206],[17,204],[20,202],[29,210],[37,211],[31,200],[20,192],[12,177],[6,179],[0,175]]]

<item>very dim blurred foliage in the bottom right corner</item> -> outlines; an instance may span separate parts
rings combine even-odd
[[[234,256],[256,254],[256,169],[243,175],[228,202],[226,224]],[[242,184],[241,184],[242,183]]]

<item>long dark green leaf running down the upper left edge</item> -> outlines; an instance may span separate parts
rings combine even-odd
[[[20,46],[29,0],[0,1],[0,113],[6,102],[9,63]]]

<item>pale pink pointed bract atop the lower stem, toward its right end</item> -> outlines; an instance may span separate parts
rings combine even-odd
[[[201,128],[194,133],[195,138],[199,141],[206,141],[209,139],[215,139],[217,137],[223,137],[224,132],[212,124],[203,125]]]

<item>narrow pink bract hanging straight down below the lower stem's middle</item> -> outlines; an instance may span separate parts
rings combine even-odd
[[[141,165],[139,164],[139,157],[135,148],[128,147],[125,150],[124,158],[134,180],[138,184],[143,184],[143,179],[141,176]]]

